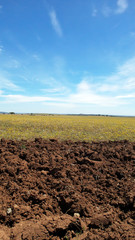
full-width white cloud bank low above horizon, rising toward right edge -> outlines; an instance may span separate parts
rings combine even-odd
[[[19,94],[3,94],[0,97],[6,103],[37,102],[48,106],[71,108],[78,106],[98,106],[114,108],[130,105],[135,101],[135,58],[129,59],[120,65],[109,76],[83,77],[79,84],[74,85],[66,92],[66,87],[54,87],[43,89],[43,96],[27,96]],[[4,81],[6,82],[6,81]],[[1,83],[1,81],[0,81]],[[11,82],[6,82],[10,87]],[[3,90],[0,86],[0,89]],[[63,92],[66,92],[64,95]],[[57,95],[58,93],[58,95]],[[82,107],[83,108],[83,107]]]

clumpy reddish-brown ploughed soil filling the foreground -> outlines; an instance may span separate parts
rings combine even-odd
[[[0,240],[135,239],[135,143],[0,141]]]

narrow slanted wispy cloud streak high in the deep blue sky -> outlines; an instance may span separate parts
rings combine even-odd
[[[54,30],[60,37],[62,37],[62,29],[61,29],[60,23],[57,19],[56,12],[54,10],[52,10],[49,12],[49,15],[50,15],[51,23],[52,23]]]

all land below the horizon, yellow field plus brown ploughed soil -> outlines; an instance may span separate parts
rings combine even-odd
[[[135,238],[135,118],[0,115],[0,133],[0,240]]]

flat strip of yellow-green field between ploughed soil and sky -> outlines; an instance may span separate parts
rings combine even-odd
[[[0,115],[0,138],[135,141],[135,118],[95,116]]]

